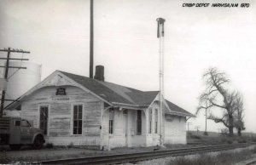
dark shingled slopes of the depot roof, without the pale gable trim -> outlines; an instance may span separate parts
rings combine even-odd
[[[135,88],[128,88],[115,83],[102,82],[96,79],[75,75],[65,71],[60,72],[65,76],[73,79],[73,81],[75,81],[76,83],[84,86],[84,88],[88,88],[91,92],[97,94],[103,100],[107,100],[110,103],[148,106],[153,102],[157,94],[159,94],[159,91],[144,92]],[[187,116],[193,116],[188,111],[183,110],[183,108],[173,104],[168,100],[166,100],[166,103],[172,112],[176,112],[177,114],[181,113]]]

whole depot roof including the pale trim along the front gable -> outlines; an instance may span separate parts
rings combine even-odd
[[[78,86],[79,88],[83,88],[84,90],[88,90],[91,94],[94,94],[97,98],[103,100],[109,105],[124,105],[129,106],[133,109],[148,108],[148,106],[151,105],[154,100],[157,101],[158,98],[156,97],[159,95],[159,91],[145,92],[137,90],[135,88],[128,88],[115,83],[102,82],[96,79],[79,76],[65,71],[55,71],[54,73],[49,75],[49,77],[46,77],[44,81],[38,83],[38,85],[36,85],[34,88],[27,91],[26,94],[20,96],[18,100],[24,100],[28,95],[32,94],[33,91],[37,90],[38,88],[44,87],[44,83],[48,85],[47,82],[56,75],[66,76],[68,81],[73,82],[72,84]],[[14,102],[13,104],[8,105],[8,107],[15,108],[15,106],[17,105],[19,105],[19,102]],[[167,109],[165,111],[167,114],[186,117],[194,116],[188,111],[183,110],[183,108],[174,105],[168,100],[166,100],[166,108]]]

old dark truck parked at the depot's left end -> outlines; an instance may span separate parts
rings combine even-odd
[[[22,145],[32,145],[38,150],[44,142],[44,131],[32,128],[25,119],[0,117],[0,145],[9,145],[12,150],[20,150]]]

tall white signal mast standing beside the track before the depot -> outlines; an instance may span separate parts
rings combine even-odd
[[[160,145],[164,144],[163,139],[163,114],[164,114],[164,108],[163,108],[163,98],[164,98],[164,37],[165,37],[165,31],[164,31],[164,25],[165,25],[165,19],[158,18],[157,21],[157,37],[159,38],[159,54],[160,54]]]

